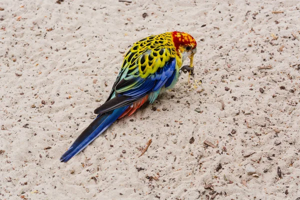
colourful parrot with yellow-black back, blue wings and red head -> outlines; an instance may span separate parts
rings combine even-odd
[[[180,70],[193,73],[197,43],[180,31],[151,35],[135,42],[125,54],[107,100],[94,110],[97,116],[60,157],[67,162],[105,131],[115,120],[130,116],[145,102],[174,87]],[[182,66],[189,57],[190,65]],[[182,67],[181,67],[182,66]]]

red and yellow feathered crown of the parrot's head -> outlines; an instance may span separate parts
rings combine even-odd
[[[178,50],[179,47],[194,49],[197,46],[196,40],[190,34],[185,32],[173,31],[172,38],[176,50]]]

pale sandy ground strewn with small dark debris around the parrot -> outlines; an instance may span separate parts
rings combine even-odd
[[[0,7],[0,199],[299,199],[298,0]],[[128,47],[173,30],[198,43],[191,85],[181,75],[60,163]]]

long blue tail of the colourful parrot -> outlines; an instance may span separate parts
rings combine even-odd
[[[65,153],[60,157],[61,162],[67,162],[74,155],[83,150],[90,142],[108,128],[126,109],[127,106],[119,107],[112,111],[99,114],[89,126],[77,137]]]

